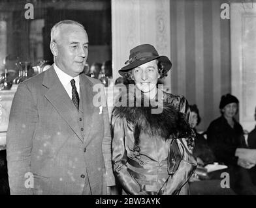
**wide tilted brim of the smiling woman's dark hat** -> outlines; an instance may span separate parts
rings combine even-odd
[[[136,68],[137,66],[140,66],[142,64],[145,64],[155,59],[159,60],[159,62],[163,64],[163,68],[164,68],[163,74],[167,73],[170,70],[170,68],[172,68],[172,62],[170,62],[170,59],[168,59],[168,57],[153,56],[153,57],[147,57],[146,59],[135,60],[134,62],[131,62],[131,64],[128,64],[127,66],[124,66],[123,68],[121,68],[121,70],[119,70],[118,72],[120,73],[121,76],[125,77],[125,74],[133,70],[133,68]]]

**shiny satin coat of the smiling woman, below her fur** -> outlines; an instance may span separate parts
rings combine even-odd
[[[164,92],[163,99],[184,112],[188,120],[190,111],[185,98]],[[180,194],[181,189],[187,193],[185,183],[197,162],[189,153],[185,138],[165,140],[141,133],[140,154],[136,155],[133,123],[112,114],[111,124],[114,174],[127,194]]]

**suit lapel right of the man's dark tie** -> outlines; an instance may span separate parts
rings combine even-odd
[[[93,84],[86,78],[86,75],[80,75],[80,98],[82,98],[84,112],[84,145],[88,144],[88,136],[92,126],[93,116]]]

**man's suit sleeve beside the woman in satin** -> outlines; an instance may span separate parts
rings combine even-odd
[[[104,117],[104,138],[103,138],[103,157],[106,166],[106,185],[108,187],[116,185],[115,177],[112,168],[112,155],[111,155],[111,135],[110,123],[108,118],[108,108],[103,107]]]

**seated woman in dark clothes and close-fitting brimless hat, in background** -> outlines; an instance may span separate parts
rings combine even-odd
[[[210,123],[207,129],[207,141],[217,162],[229,167],[230,183],[234,192],[256,194],[256,187],[248,172],[248,169],[255,164],[236,156],[238,149],[246,148],[242,125],[234,118],[238,112],[238,103],[238,99],[231,94],[221,97],[219,103],[221,116]]]

